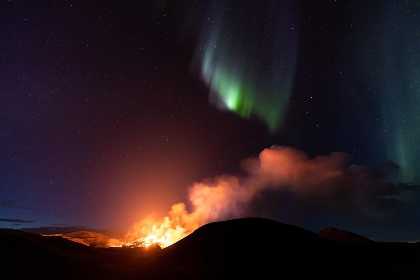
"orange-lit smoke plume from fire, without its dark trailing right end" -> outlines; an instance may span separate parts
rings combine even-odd
[[[136,223],[127,234],[128,245],[170,246],[208,222],[225,215],[240,215],[241,205],[268,188],[288,188],[298,193],[308,188],[316,191],[320,184],[342,176],[348,159],[344,153],[310,159],[291,147],[265,149],[258,160],[244,162],[247,175],[243,177],[222,175],[194,183],[189,188],[192,212],[186,210],[184,203],[177,203],[163,219],[148,217]]]

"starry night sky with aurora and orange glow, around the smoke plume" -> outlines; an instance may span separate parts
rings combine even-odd
[[[418,1],[3,1],[0,227],[126,230],[275,144],[394,191],[378,223],[278,192],[249,215],[420,240],[419,34]]]

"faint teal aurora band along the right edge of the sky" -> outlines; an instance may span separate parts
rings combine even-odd
[[[392,10],[397,9],[398,13]],[[420,6],[396,3],[384,7],[385,32],[378,48],[381,70],[377,74],[382,107],[382,139],[386,157],[402,167],[403,178],[418,182],[420,159]]]

